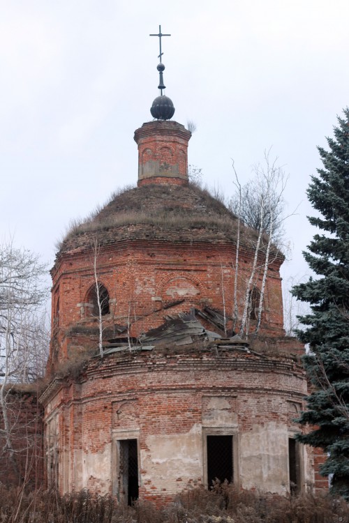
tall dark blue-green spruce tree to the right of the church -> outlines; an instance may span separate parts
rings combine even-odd
[[[315,273],[293,287],[292,294],[311,305],[297,331],[309,344],[304,365],[311,383],[307,410],[299,419],[311,432],[299,441],[322,448],[327,460],[321,473],[332,491],[349,500],[349,108],[338,118],[329,151],[318,147],[323,168],[307,190],[320,232],[304,252]]]

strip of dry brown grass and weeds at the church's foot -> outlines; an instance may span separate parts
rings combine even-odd
[[[133,507],[87,490],[61,497],[56,491],[26,494],[0,485],[1,523],[348,523],[343,499],[327,495],[280,497],[239,491],[225,483],[211,491],[193,488],[173,503]]]

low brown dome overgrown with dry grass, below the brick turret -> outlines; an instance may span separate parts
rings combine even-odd
[[[197,185],[149,183],[121,190],[91,218],[76,225],[57,255],[125,240],[234,242],[237,218],[219,199]],[[242,243],[255,234],[242,227]]]

